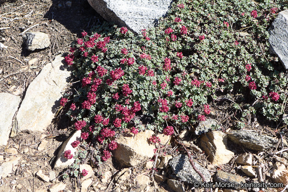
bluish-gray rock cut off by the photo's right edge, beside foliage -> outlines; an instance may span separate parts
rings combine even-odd
[[[285,69],[288,68],[288,10],[278,13],[269,28],[269,50],[276,54]]]

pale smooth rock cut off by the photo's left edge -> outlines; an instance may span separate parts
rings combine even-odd
[[[10,93],[0,93],[0,145],[6,145],[12,126],[12,119],[21,98]]]

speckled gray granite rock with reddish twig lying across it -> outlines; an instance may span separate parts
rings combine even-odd
[[[202,167],[200,164],[194,161],[195,167],[204,175],[206,182],[210,181],[210,172],[208,169]],[[173,157],[169,163],[173,173],[180,178],[182,181],[189,183],[201,182],[201,176],[193,169],[192,165],[189,162],[188,155],[179,154]]]

